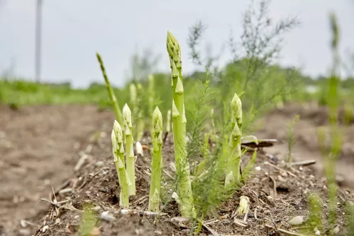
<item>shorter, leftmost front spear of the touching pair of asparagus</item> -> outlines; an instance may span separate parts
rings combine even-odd
[[[118,135],[116,135],[116,133]],[[127,172],[125,170],[125,165],[123,163],[124,148],[123,148],[123,142],[120,141],[123,138],[122,136],[123,135],[122,135],[122,130],[120,129],[120,125],[117,122],[117,120],[115,120],[111,138],[112,138],[112,145],[113,145],[113,162],[115,163],[115,168],[117,169],[118,181],[120,185],[119,204],[121,207],[129,207]]]

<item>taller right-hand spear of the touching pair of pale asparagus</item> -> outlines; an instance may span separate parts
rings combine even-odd
[[[123,107],[124,134],[125,134],[125,157],[127,158],[127,177],[130,180],[129,195],[135,195],[135,158],[132,138],[132,113],[125,103]]]

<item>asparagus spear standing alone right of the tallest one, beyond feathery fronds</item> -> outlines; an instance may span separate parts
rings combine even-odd
[[[241,159],[241,125],[242,125],[242,108],[241,100],[235,93],[231,101],[231,134],[229,137],[229,160],[227,177],[225,185],[232,181],[239,181],[240,178],[240,159]]]

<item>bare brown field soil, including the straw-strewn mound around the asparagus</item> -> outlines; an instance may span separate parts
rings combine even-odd
[[[167,203],[163,209],[167,215],[160,215],[156,224],[155,216],[146,212],[150,180],[147,150],[136,161],[137,195],[130,198],[130,211],[121,211],[110,143],[113,112],[98,111],[95,106],[31,106],[18,111],[0,106],[0,113],[1,236],[76,235],[85,207],[95,215],[91,235],[188,235],[192,225],[182,222],[175,202]],[[301,120],[295,128],[294,160],[314,159],[316,164],[289,169],[283,163],[286,123],[296,113]],[[280,229],[291,230],[288,220],[292,217],[307,217],[308,193],[316,191],[323,197],[327,193],[316,142],[316,127],[326,125],[327,117],[326,109],[314,103],[289,104],[269,113],[256,136],[276,138],[278,143],[259,152],[254,175],[204,220],[207,226],[199,235],[277,235]],[[342,206],[354,190],[354,175],[344,174],[354,170],[354,124],[345,130],[337,175],[338,235],[345,235]],[[141,142],[150,145],[148,138]],[[167,137],[164,164],[173,176],[172,150],[172,140]],[[245,155],[244,163],[249,158]],[[235,218],[243,217],[232,218],[241,195],[251,202],[246,227],[234,223]]]

